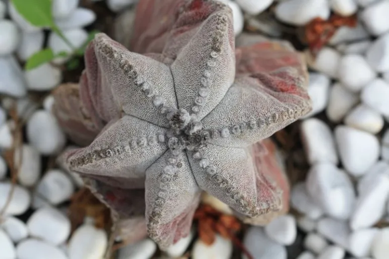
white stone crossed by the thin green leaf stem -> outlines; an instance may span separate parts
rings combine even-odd
[[[81,47],[85,41],[88,39],[88,33],[83,29],[70,29],[63,30],[64,36],[70,41],[70,43],[75,47]],[[62,51],[66,53],[73,53],[72,48],[57,34],[51,32],[48,37],[48,47],[50,47],[55,54],[59,54]],[[55,58],[52,62],[55,64],[63,64],[69,58]]]

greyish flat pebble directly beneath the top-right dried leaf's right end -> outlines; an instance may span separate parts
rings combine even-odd
[[[337,0],[338,2],[343,0]],[[354,1],[354,0],[346,0],[346,1]],[[355,27],[349,27],[349,26],[341,26],[334,34],[334,36],[331,37],[329,40],[329,44],[331,45],[338,45],[339,43],[343,42],[353,42],[363,39],[368,39],[370,37],[370,34],[366,31],[365,27],[358,23]]]

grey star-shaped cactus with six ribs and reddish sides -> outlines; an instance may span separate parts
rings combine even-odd
[[[97,34],[79,95],[54,106],[73,139],[94,138],[65,152],[65,167],[121,215],[140,215],[134,204],[145,202],[148,234],[162,248],[188,234],[202,190],[246,219],[282,209],[252,145],[310,111],[306,68],[292,49],[236,49],[229,7],[167,2],[140,1],[138,53]]]

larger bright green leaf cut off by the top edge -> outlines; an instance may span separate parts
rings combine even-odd
[[[32,25],[52,27],[51,0],[12,0],[15,9]]]

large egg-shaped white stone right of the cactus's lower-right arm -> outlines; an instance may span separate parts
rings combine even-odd
[[[348,219],[355,205],[355,191],[348,175],[331,163],[311,167],[307,191],[324,212],[337,219]]]

